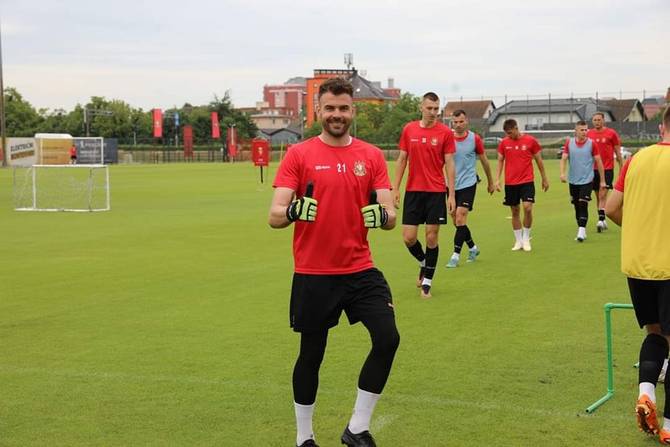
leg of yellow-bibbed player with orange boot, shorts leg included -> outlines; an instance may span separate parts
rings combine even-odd
[[[653,282],[628,278],[628,289],[638,324],[647,330],[640,346],[639,393],[635,413],[640,430],[656,433],[656,381],[663,360],[668,357],[668,341],[661,335],[659,302]]]

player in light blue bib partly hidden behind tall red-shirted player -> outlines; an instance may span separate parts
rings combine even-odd
[[[458,266],[464,243],[468,244],[468,262],[474,262],[479,255],[479,248],[472,240],[472,234],[468,228],[468,212],[472,211],[475,203],[475,193],[477,192],[477,158],[479,158],[486,174],[487,191],[489,194],[493,194],[495,191],[491,167],[486,158],[486,152],[484,152],[484,143],[479,135],[468,129],[469,120],[464,110],[454,111],[451,125],[456,140],[456,153],[454,155],[456,165],[454,186],[456,190],[456,212],[452,214],[456,233],[454,234],[454,253],[447,263],[448,268]]]

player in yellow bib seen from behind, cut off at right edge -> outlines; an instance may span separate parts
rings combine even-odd
[[[621,270],[628,277],[637,321],[647,331],[640,347],[637,423],[670,444],[669,380],[660,431],[656,417],[656,381],[670,340],[670,107],[660,130],[662,142],[638,151],[624,165],[606,213],[621,225]]]

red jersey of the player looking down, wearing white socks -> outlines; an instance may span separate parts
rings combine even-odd
[[[533,156],[541,150],[540,143],[527,134],[517,140],[503,138],[498,145],[498,153],[505,157],[505,185],[534,181]]]

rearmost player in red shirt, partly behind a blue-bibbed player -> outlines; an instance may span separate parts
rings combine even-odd
[[[593,166],[593,191],[596,193],[596,201],[598,204],[598,223],[596,230],[600,233],[607,230],[607,221],[605,220],[605,202],[607,202],[608,190],[612,189],[612,181],[614,180],[614,157],[619,164],[619,171],[623,164],[621,157],[621,140],[619,134],[614,129],[605,126],[605,114],[603,112],[596,112],[591,117],[593,129],[589,129],[586,136],[593,140],[600,152],[600,157],[603,161],[603,168],[605,169],[605,184],[606,189],[600,188],[600,175],[596,166]]]

